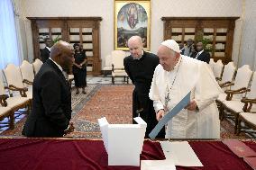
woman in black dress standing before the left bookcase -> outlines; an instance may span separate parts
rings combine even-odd
[[[87,86],[87,56],[78,43],[75,43],[73,47],[75,49],[73,75],[77,89],[76,94],[79,94],[79,88],[82,88],[83,94],[87,94],[85,90]]]

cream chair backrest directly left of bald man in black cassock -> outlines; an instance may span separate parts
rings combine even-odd
[[[125,52],[123,50],[114,50],[111,52],[111,56],[114,69],[123,69],[123,58],[125,58]]]

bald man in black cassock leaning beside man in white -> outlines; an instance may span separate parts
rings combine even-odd
[[[155,54],[143,50],[142,38],[139,36],[131,37],[128,40],[128,47],[131,55],[123,59],[123,65],[133,85],[135,85],[133,90],[133,118],[140,115],[147,122],[145,138],[149,138],[151,130],[158,123],[149,93],[155,67],[160,62]],[[156,138],[163,139],[164,137],[165,130],[163,128]]]

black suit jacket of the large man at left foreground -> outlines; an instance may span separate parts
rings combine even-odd
[[[71,94],[68,82],[48,59],[32,85],[32,113],[23,127],[26,137],[62,137],[71,119]]]

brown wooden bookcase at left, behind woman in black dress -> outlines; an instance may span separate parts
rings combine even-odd
[[[100,22],[101,17],[28,17],[32,22],[32,40],[34,49],[34,59],[40,58],[40,29],[48,29],[50,38],[57,37],[59,29],[61,29],[61,40],[65,40],[73,44],[78,42],[92,49],[85,49],[88,55],[88,65],[92,70],[88,70],[88,75],[101,74],[101,57],[100,57]],[[72,34],[78,35],[78,40],[70,39],[70,28],[78,28],[78,32]],[[90,34],[83,32],[83,29],[91,28],[92,40],[83,40],[83,35]]]

